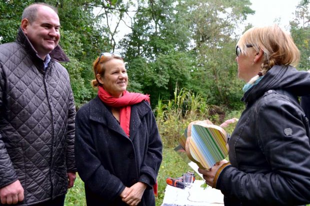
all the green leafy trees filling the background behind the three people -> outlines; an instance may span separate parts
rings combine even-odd
[[[36,0],[0,1],[0,43],[15,39],[24,7]],[[58,9],[60,45],[77,106],[96,94],[91,64],[102,51],[118,49],[126,61],[129,91],[173,99],[174,85],[200,94],[209,104],[242,108],[234,48],[240,21],[254,11],[249,0],[44,0]],[[309,68],[309,1],[301,0],[291,22],[300,52],[299,69]],[[129,16],[129,21],[124,19]],[[113,19],[114,27],[112,26]],[[117,43],[120,22],[131,31]],[[216,119],[216,116],[214,116]],[[220,117],[217,118],[218,120]]]

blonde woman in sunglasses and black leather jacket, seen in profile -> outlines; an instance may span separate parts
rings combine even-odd
[[[277,25],[247,30],[236,55],[246,107],[228,142],[230,162],[199,172],[225,206],[310,203],[310,131],[297,98],[310,94],[310,73],[292,66],[299,51]]]

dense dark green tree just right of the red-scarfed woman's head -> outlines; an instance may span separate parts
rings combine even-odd
[[[130,89],[158,97],[173,96],[175,84],[187,87],[193,55],[190,30],[180,19],[175,0],[140,1],[132,18],[132,32],[120,42],[127,61]]]

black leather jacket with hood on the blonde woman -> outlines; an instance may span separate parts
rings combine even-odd
[[[274,66],[247,91],[216,188],[225,206],[310,203],[308,119],[296,96],[310,93],[310,73]]]

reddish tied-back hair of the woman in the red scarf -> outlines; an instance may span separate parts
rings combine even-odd
[[[96,74],[99,74],[101,77],[103,77],[104,71],[105,71],[104,63],[111,60],[111,59],[120,59],[123,61],[123,59],[121,57],[114,56],[114,55],[111,55],[111,56],[100,55],[99,57],[96,58],[96,60],[94,60],[94,62],[92,63],[92,69],[93,69],[95,79],[91,80],[91,86],[92,87],[95,88],[95,87],[98,87],[99,85],[101,85],[97,79]]]

